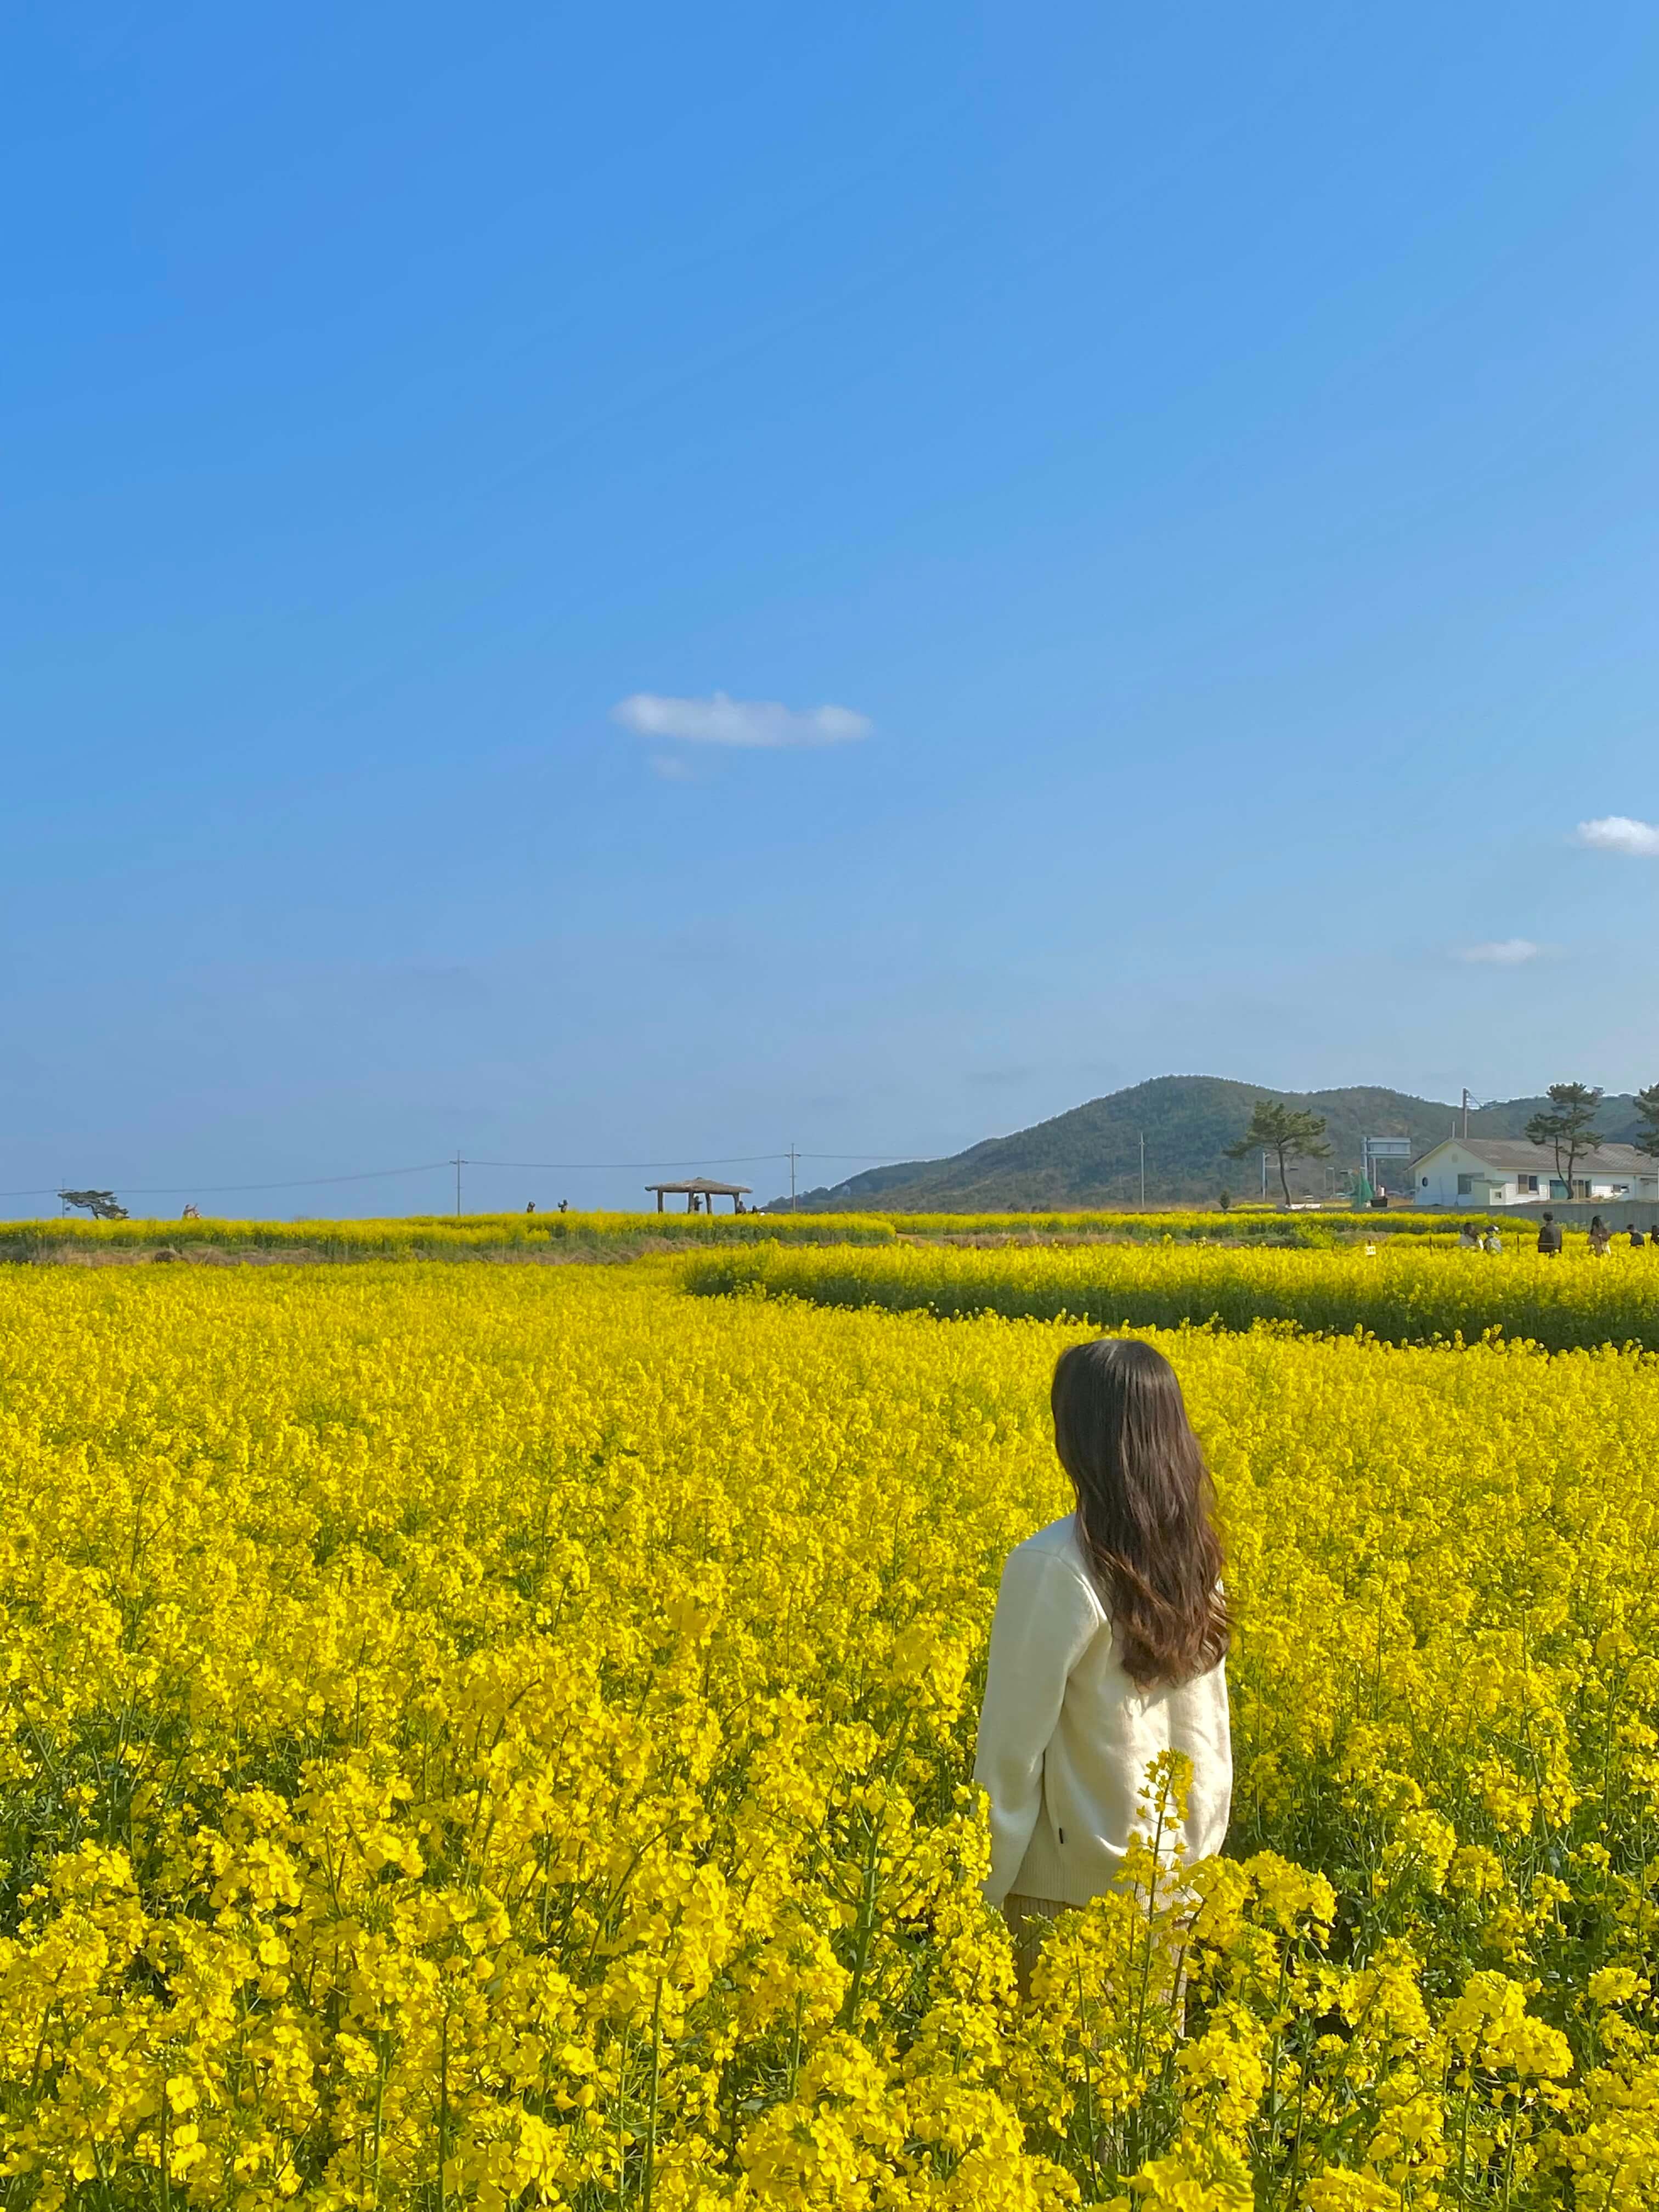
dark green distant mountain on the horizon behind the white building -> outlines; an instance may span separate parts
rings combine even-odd
[[[1259,1197],[1256,1161],[1225,1159],[1250,1126],[1256,1099],[1283,1099],[1325,1115],[1329,1161],[1301,1161],[1290,1170],[1296,1197],[1323,1197],[1332,1168],[1358,1168],[1360,1137],[1409,1137],[1413,1152],[1462,1126],[1462,1113],[1440,1099],[1405,1091],[1265,1091],[1221,1075],[1159,1075],[1104,1099],[1073,1106],[1053,1121],[1037,1121],[1013,1137],[987,1137],[953,1159],[907,1159],[869,1168],[796,1201],[810,1212],[878,1206],[889,1212],[1009,1212],[1075,1206],[1135,1206],[1141,1194],[1139,1139],[1146,1137],[1148,1206],[1212,1203],[1217,1192]],[[1473,1108],[1469,1135],[1520,1137],[1546,1099],[1504,1099]],[[1639,1130],[1635,1099],[1610,1097],[1599,1130],[1628,1144]],[[1272,1166],[1272,1164],[1270,1164]],[[1398,1186],[1405,1183],[1402,1168]],[[787,1199],[781,1201],[787,1206]]]

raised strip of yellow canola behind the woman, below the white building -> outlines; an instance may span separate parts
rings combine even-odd
[[[1303,1329],[1363,1329],[1413,1345],[1498,1329],[1551,1352],[1593,1345],[1659,1349],[1659,1248],[1584,1245],[1540,1259],[1533,1241],[1506,1252],[1433,1250],[1422,1239],[1325,1252],[1199,1245],[960,1248],[894,1245],[872,1252],[708,1254],[692,1267],[703,1292],[765,1290],[823,1305],[883,1305],[938,1316],[1002,1314],[1093,1321],[1097,1327],[1181,1327],[1217,1321],[1248,1329],[1290,1321]]]

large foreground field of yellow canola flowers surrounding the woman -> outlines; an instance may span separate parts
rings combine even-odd
[[[1020,2004],[969,1790],[1075,1327],[679,1263],[0,1276],[0,2203],[1659,2201],[1659,1369],[1159,1338],[1228,1856]]]

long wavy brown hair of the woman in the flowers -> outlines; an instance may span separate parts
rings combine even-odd
[[[1097,1336],[1060,1354],[1055,1451],[1077,1537],[1141,1686],[1183,1683],[1228,1652],[1214,1484],[1175,1369],[1150,1345]]]

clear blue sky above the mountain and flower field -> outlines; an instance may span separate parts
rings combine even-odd
[[[1650,9],[0,60],[7,1212],[1659,1079]]]

